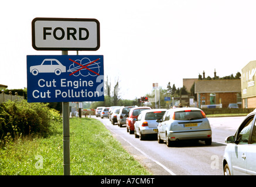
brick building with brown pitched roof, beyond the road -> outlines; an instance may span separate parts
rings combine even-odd
[[[229,103],[241,105],[241,80],[240,79],[213,79],[198,80],[194,85],[197,93],[197,105],[216,106],[227,108]]]

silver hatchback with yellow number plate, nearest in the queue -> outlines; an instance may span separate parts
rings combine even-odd
[[[158,122],[158,143],[166,141],[170,147],[178,140],[203,140],[211,144],[210,123],[199,108],[169,109]]]

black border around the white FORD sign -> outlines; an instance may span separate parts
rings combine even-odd
[[[36,47],[35,44],[35,22],[43,21],[73,21],[73,22],[96,22],[97,24],[97,47]],[[32,47],[35,50],[54,50],[54,51],[97,51],[100,48],[100,22],[97,19],[90,18],[35,18],[32,20]]]

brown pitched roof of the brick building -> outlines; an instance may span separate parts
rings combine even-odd
[[[195,93],[241,92],[240,79],[200,80],[194,84]]]

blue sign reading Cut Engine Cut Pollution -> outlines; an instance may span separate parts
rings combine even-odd
[[[27,56],[28,102],[104,101],[102,55]]]

